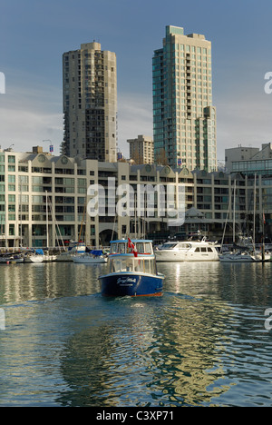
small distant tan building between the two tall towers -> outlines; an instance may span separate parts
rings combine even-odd
[[[130,158],[135,163],[154,163],[154,143],[152,137],[139,135],[136,139],[129,139]]]

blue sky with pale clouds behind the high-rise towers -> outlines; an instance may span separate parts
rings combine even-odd
[[[154,50],[166,25],[212,44],[218,160],[225,149],[272,142],[271,0],[0,0],[0,146],[44,151],[63,141],[64,52],[93,40],[117,55],[118,144],[152,136]]]

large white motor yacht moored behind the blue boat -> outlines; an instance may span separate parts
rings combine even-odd
[[[165,242],[154,252],[157,262],[218,262],[216,242],[200,241]]]

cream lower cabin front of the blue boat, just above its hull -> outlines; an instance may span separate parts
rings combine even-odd
[[[110,273],[116,272],[142,272],[156,273],[153,258],[140,257],[109,257],[108,268]]]

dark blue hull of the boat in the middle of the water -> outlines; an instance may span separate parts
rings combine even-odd
[[[163,275],[110,273],[99,277],[102,295],[112,297],[161,296]]]

